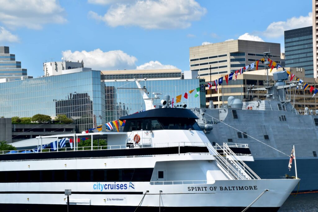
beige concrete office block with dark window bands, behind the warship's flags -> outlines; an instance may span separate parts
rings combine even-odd
[[[268,51],[272,60],[284,66],[284,60],[280,59],[280,44],[277,43],[232,40],[190,47],[190,70],[198,71],[200,78],[210,81],[210,66],[211,75],[231,73],[263,58],[263,53]]]

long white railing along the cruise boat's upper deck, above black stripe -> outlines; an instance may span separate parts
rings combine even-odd
[[[167,143],[155,143],[151,146],[144,144],[123,144],[123,145],[106,145],[106,146],[91,146],[89,147],[59,147],[59,151],[53,148],[42,149],[42,152],[64,152],[64,151],[92,151],[92,150],[108,150],[108,149],[127,149],[127,148],[151,148],[151,147],[180,147],[192,146],[192,147],[206,147],[204,142],[167,142]],[[35,149],[24,149],[24,150],[7,150],[0,151],[0,154],[30,154],[30,153],[41,153],[40,146],[38,151]],[[75,149],[74,149],[75,148]]]

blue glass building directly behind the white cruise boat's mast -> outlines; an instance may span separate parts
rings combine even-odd
[[[187,108],[205,107],[205,80],[204,79],[161,79],[161,80],[141,80],[141,87],[145,86],[149,92],[149,98],[154,98],[153,93],[162,93],[160,99],[154,100],[154,105],[160,104],[164,95],[169,94],[170,99],[182,94],[181,103],[187,104]],[[200,87],[199,96],[196,98],[196,88]],[[195,89],[191,94],[190,90]],[[188,99],[183,97],[188,93]],[[121,116],[145,110],[141,89],[138,89],[135,80],[130,81],[105,81],[105,107],[106,121],[114,121]]]

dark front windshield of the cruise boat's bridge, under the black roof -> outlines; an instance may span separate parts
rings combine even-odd
[[[194,119],[187,119],[187,118],[159,118],[159,122],[162,124],[165,130],[200,130],[199,125]]]

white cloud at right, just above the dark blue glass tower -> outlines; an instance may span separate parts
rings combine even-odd
[[[312,12],[309,12],[308,16],[292,17],[287,19],[287,21],[273,22],[268,25],[263,34],[268,38],[278,38],[283,36],[286,30],[312,26],[312,24]]]

